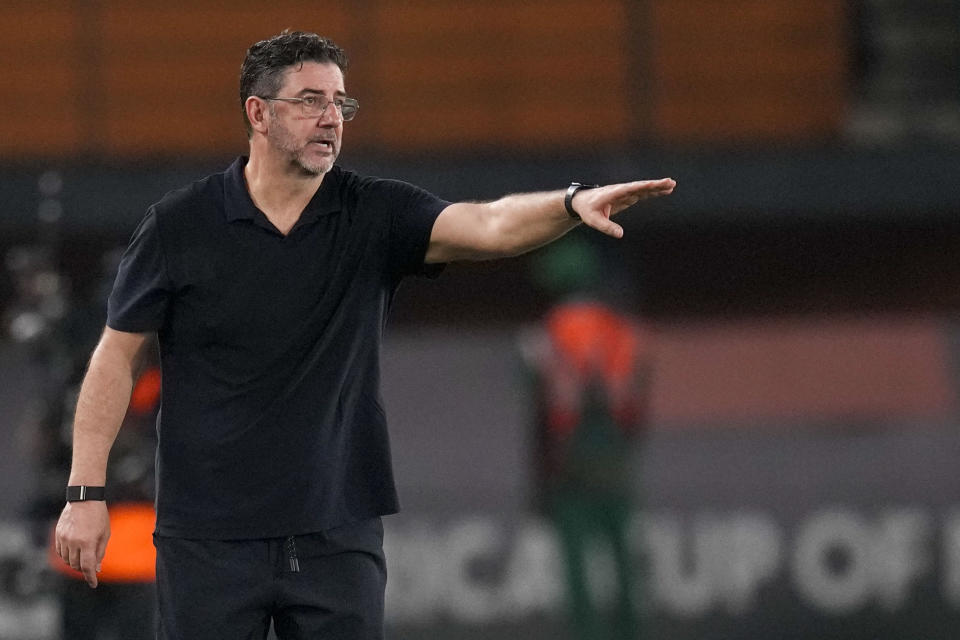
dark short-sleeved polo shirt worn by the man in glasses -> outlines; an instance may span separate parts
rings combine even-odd
[[[285,536],[398,509],[381,334],[449,203],[334,167],[283,236],[245,162],[149,209],[108,304],[111,328],[159,336],[160,535]]]

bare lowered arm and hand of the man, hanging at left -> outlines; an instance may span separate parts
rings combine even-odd
[[[109,327],[90,358],[80,387],[73,422],[71,485],[103,486],[107,456],[127,411],[144,346],[151,334]],[[102,501],[68,502],[56,531],[57,554],[83,572],[91,587],[110,538],[110,520]]]

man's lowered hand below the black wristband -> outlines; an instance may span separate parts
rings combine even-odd
[[[102,500],[68,502],[57,522],[57,555],[77,571],[92,588],[110,539],[110,516]]]

